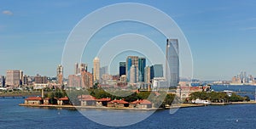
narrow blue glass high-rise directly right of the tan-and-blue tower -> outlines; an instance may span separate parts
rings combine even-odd
[[[138,81],[143,82],[144,81],[144,69],[146,67],[146,59],[143,57],[140,57],[138,59]]]

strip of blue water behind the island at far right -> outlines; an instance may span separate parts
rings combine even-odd
[[[251,98],[253,100],[255,99],[255,88],[256,88],[255,86],[213,85],[211,87],[214,91],[217,91],[217,92],[224,91],[224,90],[230,90],[230,91],[233,91],[233,92],[238,92],[237,93],[238,95],[241,95],[241,96],[246,96],[247,95],[249,98]]]

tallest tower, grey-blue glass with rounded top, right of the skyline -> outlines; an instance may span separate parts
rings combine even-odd
[[[179,52],[177,39],[166,40],[166,79],[170,87],[177,87],[179,81]]]

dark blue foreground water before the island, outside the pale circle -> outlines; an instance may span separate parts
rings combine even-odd
[[[90,121],[76,110],[29,108],[18,106],[20,103],[22,98],[0,98],[1,129],[113,128]],[[183,108],[173,115],[169,110],[159,110],[137,124],[114,128],[255,128],[255,115],[254,104]]]

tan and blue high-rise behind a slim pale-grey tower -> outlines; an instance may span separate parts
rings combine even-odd
[[[134,65],[136,68],[138,68],[138,57],[137,56],[128,56],[126,58],[126,79],[127,81],[130,81],[130,72],[131,72],[131,66]],[[138,70],[136,73],[137,77],[137,81],[138,81]]]

